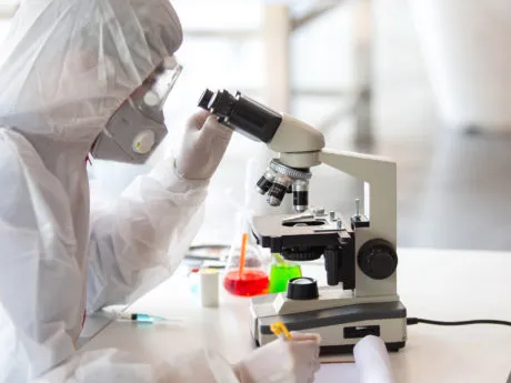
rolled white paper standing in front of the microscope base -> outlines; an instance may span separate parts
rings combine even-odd
[[[373,335],[363,337],[353,349],[360,383],[394,383],[384,342]]]

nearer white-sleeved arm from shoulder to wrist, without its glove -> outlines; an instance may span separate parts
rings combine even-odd
[[[76,230],[81,219],[87,230],[88,206],[73,216],[60,180],[22,135],[2,128],[0,183],[0,383],[231,383],[221,376],[234,376],[232,365],[210,350],[171,361],[77,351],[86,271]]]

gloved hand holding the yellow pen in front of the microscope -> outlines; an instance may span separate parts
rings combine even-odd
[[[253,351],[234,365],[241,383],[312,383],[320,367],[318,334],[292,333]]]

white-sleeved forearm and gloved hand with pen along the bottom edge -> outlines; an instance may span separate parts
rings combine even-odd
[[[250,335],[249,335],[250,336]],[[293,334],[275,340],[229,363],[212,349],[171,359],[148,359],[116,349],[84,351],[36,383],[310,383],[320,367],[320,337]]]

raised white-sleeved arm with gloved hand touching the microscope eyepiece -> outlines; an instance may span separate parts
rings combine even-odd
[[[130,303],[172,274],[202,223],[206,188],[231,134],[196,113],[176,161],[137,178],[113,205],[92,200],[88,312]]]

